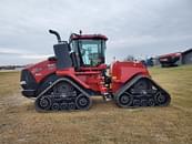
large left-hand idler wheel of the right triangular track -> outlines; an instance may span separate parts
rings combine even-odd
[[[121,95],[117,96],[117,104],[120,107],[129,107],[133,103],[133,95],[128,92],[122,93]]]

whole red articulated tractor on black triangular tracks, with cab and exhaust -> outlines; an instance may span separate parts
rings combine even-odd
[[[151,80],[142,63],[104,64],[105,35],[72,33],[67,42],[57,31],[49,32],[58,39],[54,56],[21,72],[22,94],[36,99],[37,111],[88,110],[95,95],[111,99],[120,107],[170,103],[169,93]]]

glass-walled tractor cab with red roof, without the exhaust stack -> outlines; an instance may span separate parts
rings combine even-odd
[[[105,41],[101,34],[75,34],[69,40],[70,49],[75,53],[82,68],[95,68],[105,62]]]

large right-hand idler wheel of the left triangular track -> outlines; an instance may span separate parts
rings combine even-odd
[[[81,93],[75,100],[75,105],[79,110],[88,110],[92,105],[92,101],[89,96]]]

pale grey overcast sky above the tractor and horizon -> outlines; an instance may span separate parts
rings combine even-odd
[[[192,0],[0,0],[0,65],[53,54],[49,29],[102,33],[107,61],[192,48]]]

